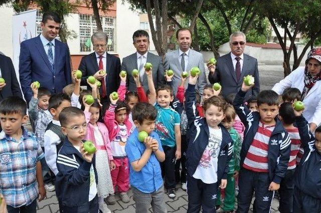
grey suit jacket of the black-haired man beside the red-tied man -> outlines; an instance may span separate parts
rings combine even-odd
[[[152,64],[152,80],[154,82],[155,87],[165,84],[164,67],[163,67],[163,62],[161,57],[148,52],[146,62],[149,62]],[[131,71],[133,69],[138,69],[137,53],[133,53],[123,58],[121,63],[121,70],[124,70],[127,72],[126,86],[128,88],[128,91],[136,92],[137,91],[136,83],[134,81],[134,78],[131,75]],[[147,82],[146,74],[144,74],[143,79],[140,79],[140,83],[141,83],[141,86],[144,88],[144,91],[146,92],[148,90],[148,82]]]

